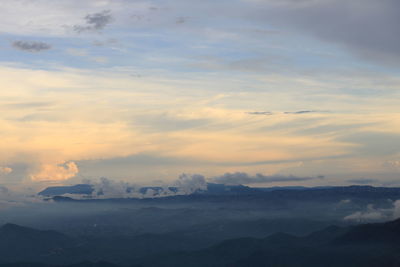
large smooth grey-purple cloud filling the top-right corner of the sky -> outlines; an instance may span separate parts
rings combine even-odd
[[[269,24],[343,45],[369,60],[399,64],[398,0],[266,1],[264,9],[256,4],[258,18]]]

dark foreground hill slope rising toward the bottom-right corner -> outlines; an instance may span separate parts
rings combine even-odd
[[[400,266],[400,220],[349,228],[328,227],[305,237],[277,233],[267,238],[224,241],[196,252],[143,258],[143,266]]]

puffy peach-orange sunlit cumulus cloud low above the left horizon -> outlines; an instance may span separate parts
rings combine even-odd
[[[72,162],[64,162],[62,164],[42,164],[39,170],[31,174],[31,180],[40,181],[62,181],[74,177],[79,173],[78,166]]]

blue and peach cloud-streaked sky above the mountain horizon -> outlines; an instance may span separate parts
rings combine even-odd
[[[400,183],[397,0],[3,0],[0,185]]]

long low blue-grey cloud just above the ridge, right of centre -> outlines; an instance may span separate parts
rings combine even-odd
[[[244,172],[225,173],[222,176],[211,178],[210,181],[222,184],[257,184],[257,183],[275,183],[275,182],[303,182],[315,179],[323,179],[324,176],[318,177],[297,177],[284,175],[263,175],[257,173],[255,176],[250,176]]]

